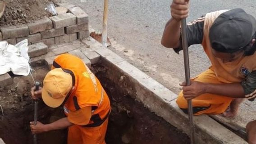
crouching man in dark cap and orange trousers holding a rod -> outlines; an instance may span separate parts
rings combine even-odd
[[[188,16],[189,0],[173,0],[172,18],[165,26],[161,43],[182,50],[181,19]],[[243,9],[219,10],[187,23],[188,45],[201,44],[211,66],[181,84],[177,104],[187,113],[192,99],[194,115],[223,114],[234,117],[244,98],[256,98],[256,20]],[[248,142],[256,144],[256,121],[247,124]]]

